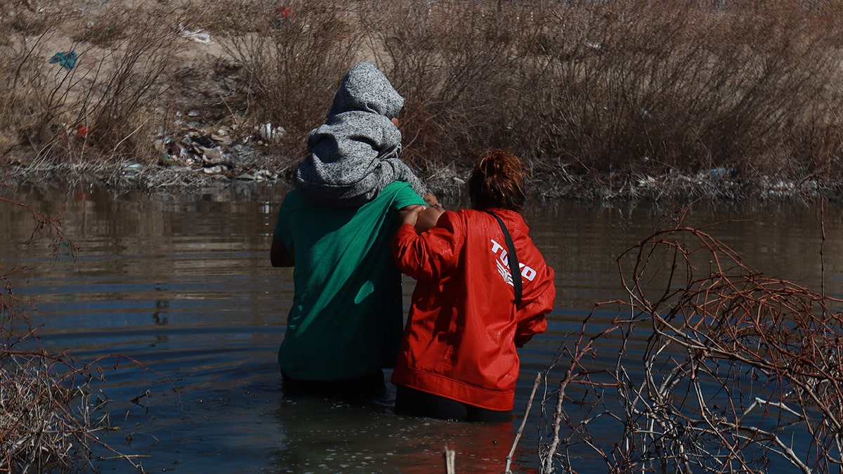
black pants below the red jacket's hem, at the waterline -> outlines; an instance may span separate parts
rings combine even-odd
[[[457,422],[509,423],[513,411],[497,412],[451,400],[444,396],[396,385],[395,412],[410,417],[429,417]]]

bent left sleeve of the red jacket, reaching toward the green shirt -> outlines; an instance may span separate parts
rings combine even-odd
[[[446,212],[435,227],[419,234],[410,224],[400,226],[389,249],[395,264],[416,280],[438,279],[453,272],[464,244],[464,223],[456,213]]]

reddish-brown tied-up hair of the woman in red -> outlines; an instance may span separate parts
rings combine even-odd
[[[520,211],[524,207],[524,167],[505,150],[487,152],[475,161],[469,178],[473,209],[498,207]]]

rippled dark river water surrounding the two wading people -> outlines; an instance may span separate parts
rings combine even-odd
[[[37,307],[30,315],[46,347],[67,349],[82,362],[105,357],[106,381],[94,387],[109,400],[105,409],[119,430],[100,436],[115,450],[137,455],[146,471],[441,472],[448,445],[457,452],[457,471],[502,472],[535,374],[570,342],[595,302],[624,297],[615,259],[670,210],[652,203],[544,202],[524,212],[556,269],[556,309],[548,331],[522,353],[518,416],[512,425],[489,426],[396,417],[391,385],[384,400],[366,407],[284,399],[276,356],[292,269],[271,267],[268,251],[286,191],[229,186],[183,197],[112,196],[94,188],[3,192],[60,218],[78,245],[74,261],[67,247],[52,256],[50,241],[38,234],[27,244],[35,221],[23,208],[0,202],[0,264],[18,271],[15,294]],[[700,202],[690,207],[688,224],[744,218],[750,220],[709,233],[765,275],[818,290],[822,283],[827,294],[843,294],[840,208]],[[829,238],[824,280],[820,218]],[[411,288],[408,280],[405,296]],[[538,417],[533,407],[515,471],[537,469]],[[605,470],[593,462],[594,471]],[[98,466],[131,469],[122,460]]]

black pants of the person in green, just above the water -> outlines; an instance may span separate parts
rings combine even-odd
[[[345,380],[293,379],[282,370],[284,396],[325,396],[342,400],[380,398],[386,394],[384,371]]]

